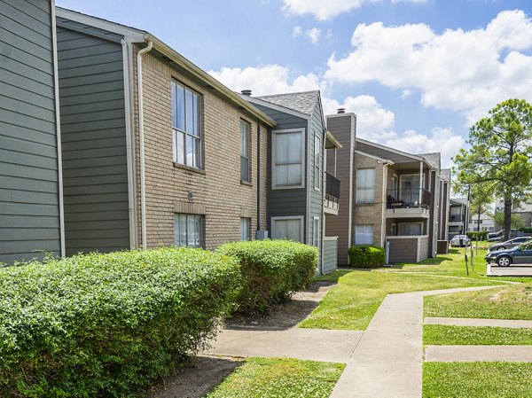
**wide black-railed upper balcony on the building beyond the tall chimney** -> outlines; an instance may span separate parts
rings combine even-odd
[[[424,189],[421,191],[389,189],[387,190],[386,214],[395,218],[428,218],[431,201],[432,195]]]

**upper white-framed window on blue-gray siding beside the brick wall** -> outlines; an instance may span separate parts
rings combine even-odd
[[[302,188],[303,130],[273,131],[273,188]]]

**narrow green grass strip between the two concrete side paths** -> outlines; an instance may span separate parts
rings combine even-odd
[[[532,329],[426,324],[423,326],[423,344],[425,346],[532,345]]]

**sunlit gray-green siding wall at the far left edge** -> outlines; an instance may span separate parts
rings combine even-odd
[[[0,261],[12,263],[60,254],[51,2],[0,0],[0,26]]]

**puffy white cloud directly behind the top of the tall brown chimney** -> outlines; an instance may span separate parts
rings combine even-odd
[[[368,95],[345,98],[343,104],[331,98],[322,98],[324,113],[336,113],[338,108],[356,113],[356,135],[372,141],[396,137],[391,131],[395,124],[395,114],[384,109],[376,98]]]

